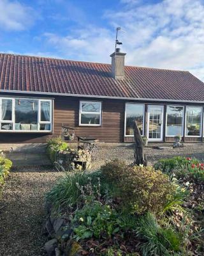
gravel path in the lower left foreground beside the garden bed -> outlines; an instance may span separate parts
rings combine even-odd
[[[11,173],[0,201],[0,255],[46,255],[41,236],[45,193],[62,173],[48,168],[23,168]]]

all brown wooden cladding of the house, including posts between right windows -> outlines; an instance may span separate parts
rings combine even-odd
[[[10,97],[36,97],[46,98],[45,95],[33,95],[22,93],[1,93],[1,96]],[[50,97],[47,97],[50,99]],[[81,97],[52,97],[54,99],[54,127],[53,132],[50,134],[45,133],[19,133],[19,132],[0,132],[0,143],[45,143],[47,138],[52,138],[61,135],[62,124],[75,127],[76,136],[93,136],[100,141],[109,143],[133,142],[133,137],[124,137],[124,111],[126,102],[145,103],[145,116],[147,121],[147,104],[166,104],[179,105],[178,102],[151,102],[151,101],[136,101],[136,100],[119,100],[119,99],[94,99],[94,98],[81,98]],[[79,102],[80,100],[97,100],[102,102],[102,124],[100,127],[79,126]],[[195,104],[180,104],[193,105]],[[196,104],[196,106],[203,106]],[[164,108],[165,109],[165,108]],[[165,113],[164,113],[165,115]],[[165,126],[165,122],[164,122]],[[145,135],[147,136],[147,127],[145,125]],[[76,137],[75,137],[76,138]],[[166,142],[173,142],[173,137],[165,137]],[[186,137],[185,142],[202,141],[202,138]]]

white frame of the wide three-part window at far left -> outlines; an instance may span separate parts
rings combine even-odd
[[[1,120],[1,112],[2,112],[2,100],[3,99],[11,99],[12,100],[12,120]],[[15,130],[15,100],[37,100],[38,101],[38,130]],[[41,121],[41,101],[50,102],[50,121]],[[10,123],[13,124],[12,130],[1,130],[2,123]],[[40,124],[50,124],[50,130],[40,130]],[[19,132],[19,133],[51,133],[53,127],[53,100],[52,99],[36,99],[32,97],[1,97],[0,96],[0,132]]]

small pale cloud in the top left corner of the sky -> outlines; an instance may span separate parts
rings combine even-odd
[[[0,0],[0,29],[21,31],[33,24],[34,11],[18,1]]]

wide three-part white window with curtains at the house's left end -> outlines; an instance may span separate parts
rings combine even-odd
[[[0,97],[0,130],[52,131],[52,100]]]

